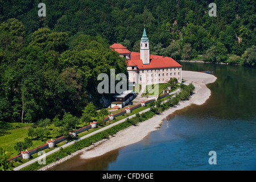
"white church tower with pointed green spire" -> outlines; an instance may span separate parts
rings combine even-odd
[[[141,60],[143,64],[150,64],[149,41],[145,28],[141,38]]]

